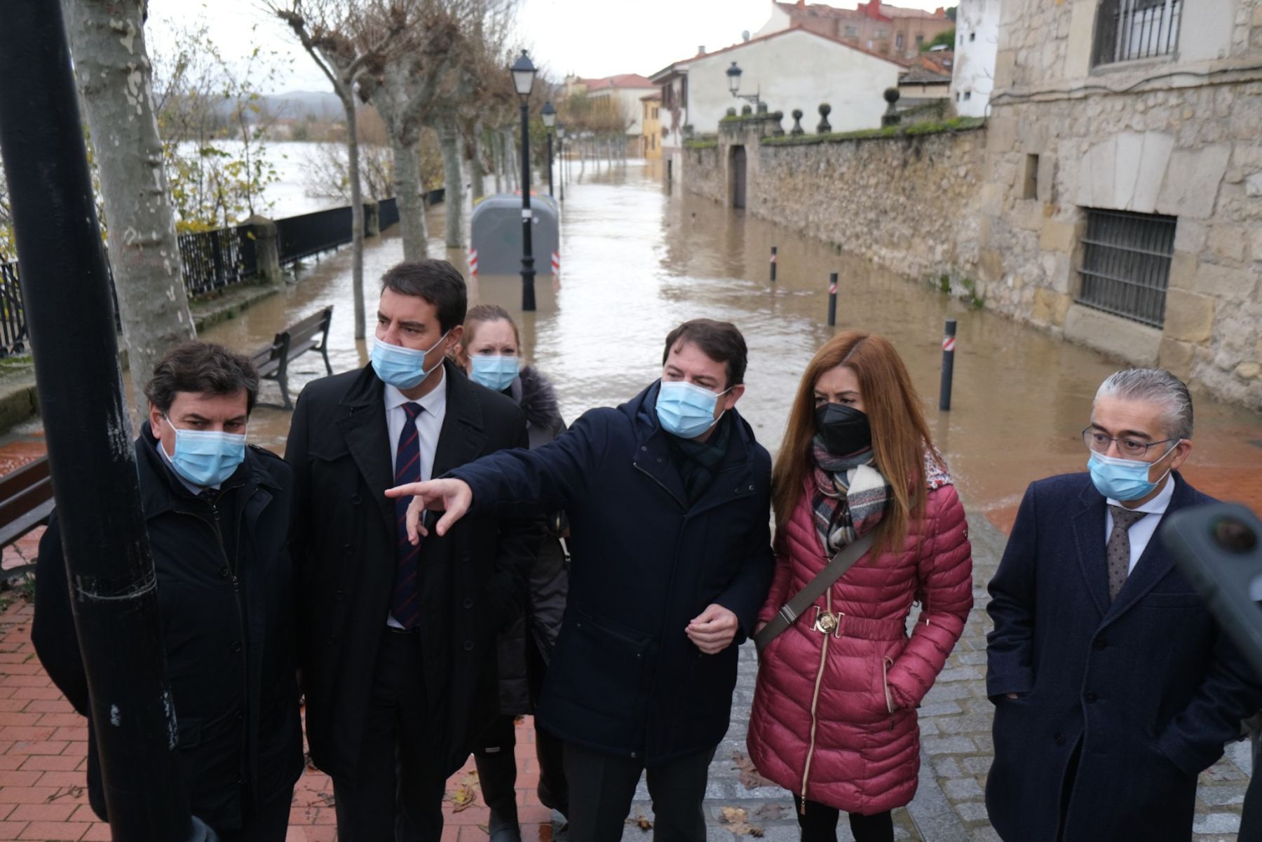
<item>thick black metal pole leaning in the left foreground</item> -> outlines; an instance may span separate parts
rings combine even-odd
[[[0,153],[115,842],[206,842],[179,776],[110,279],[59,3],[5,8]],[[37,107],[38,105],[38,107]]]

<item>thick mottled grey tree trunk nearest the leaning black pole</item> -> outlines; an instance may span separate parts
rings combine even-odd
[[[154,115],[145,3],[67,0],[64,8],[101,177],[135,406],[143,420],[149,413],[144,384],[154,364],[170,347],[197,337]]]

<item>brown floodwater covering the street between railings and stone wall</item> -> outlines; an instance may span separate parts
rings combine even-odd
[[[464,252],[448,251],[434,236],[440,232],[442,207],[437,207],[430,213],[429,254],[448,258],[467,276]],[[775,284],[769,280],[772,245],[779,249]],[[396,228],[369,241],[370,333],[377,279],[401,258]],[[363,365],[366,347],[353,340],[350,265],[348,249],[312,260],[299,283],[203,336],[252,350],[286,324],[334,304],[333,369]],[[557,382],[568,419],[592,406],[618,404],[655,379],[663,338],[679,322],[699,316],[732,321],[750,345],[748,389],[740,409],[775,452],[798,379],[830,336],[825,324],[830,271],[840,275],[837,329],[862,327],[893,340],[925,401],[936,444],[974,510],[1006,528],[1030,481],[1083,470],[1078,433],[1088,423],[1095,388],[1114,364],[973,309],[928,284],[838,255],[824,242],[680,194],[678,186],[669,194],[658,162],[599,172],[588,162],[583,179],[567,184],[562,274],[538,276],[536,313],[520,313],[517,275],[472,279],[471,303],[498,303],[520,317],[526,352]],[[959,322],[955,388],[952,412],[939,413],[946,318]],[[292,389],[297,393],[322,374],[321,359],[305,355],[295,361]],[[264,390],[265,399],[275,398],[274,384]],[[1262,418],[1201,396],[1196,420],[1196,449],[1186,471],[1191,481],[1227,497],[1237,480],[1256,483]],[[288,427],[288,413],[264,406],[250,433],[256,443],[283,449]]]

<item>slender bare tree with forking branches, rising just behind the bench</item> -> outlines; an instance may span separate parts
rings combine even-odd
[[[363,311],[363,201],[355,121],[358,86],[380,73],[395,50],[406,49],[418,0],[265,0],[333,86],[346,114],[347,181],[351,192],[351,288],[355,338],[366,335]]]

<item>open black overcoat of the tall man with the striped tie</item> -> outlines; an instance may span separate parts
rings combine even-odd
[[[521,410],[445,361],[447,415],[434,476],[526,446]],[[353,780],[372,670],[390,611],[395,502],[385,384],[372,366],[308,384],[294,409],[285,460],[298,478],[294,558],[302,588],[307,740],[316,765]],[[433,523],[433,520],[430,520]],[[420,548],[420,637],[433,757],[445,774],[468,757],[495,717],[496,634],[521,611],[543,538],[541,518],[466,518]]]

